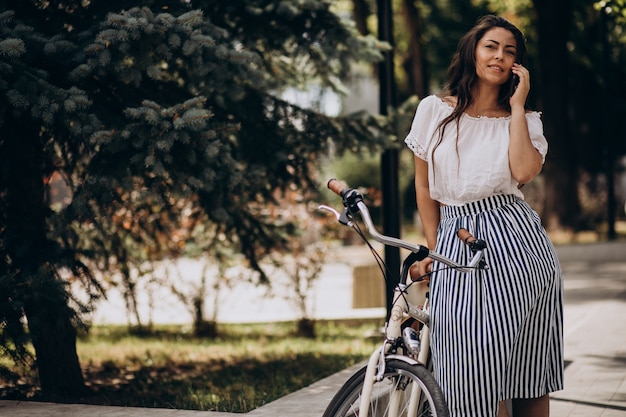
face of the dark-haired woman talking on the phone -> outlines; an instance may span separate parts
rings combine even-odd
[[[513,33],[501,27],[489,29],[476,45],[478,79],[490,84],[504,84],[511,77],[516,55],[517,42]]]

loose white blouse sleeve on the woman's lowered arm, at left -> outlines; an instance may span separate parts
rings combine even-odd
[[[404,143],[420,159],[428,158],[428,150],[432,145],[434,132],[442,120],[442,107],[447,106],[437,96],[428,96],[420,101],[411,124],[411,130]]]

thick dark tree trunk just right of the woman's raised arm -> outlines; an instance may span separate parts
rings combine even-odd
[[[545,136],[550,144],[544,169],[546,228],[576,229],[579,219],[578,161],[569,131],[569,57],[566,43],[571,0],[535,0],[539,34],[540,89]]]

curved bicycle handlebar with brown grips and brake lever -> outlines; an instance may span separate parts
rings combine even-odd
[[[413,244],[395,237],[385,236],[378,233],[378,231],[376,230],[376,226],[372,221],[372,217],[370,216],[370,212],[365,205],[365,202],[363,201],[363,196],[358,190],[354,188],[349,188],[345,183],[335,178],[330,179],[327,183],[327,186],[332,192],[342,198],[343,205],[345,207],[344,214],[339,215],[336,210],[328,206],[320,206],[320,208],[334,212],[337,220],[345,225],[350,225],[350,221],[349,218],[345,219],[344,215],[352,215],[356,212],[359,212],[359,214],[361,215],[361,219],[363,219],[363,223],[365,223],[368,233],[370,234],[372,239],[376,240],[377,242],[380,242],[387,246],[407,249],[413,253],[416,253],[418,255],[417,260],[423,260],[427,257],[432,258],[462,272],[469,272],[476,268],[487,268],[487,265],[482,262],[483,251],[486,249],[487,244],[484,240],[476,239],[467,229],[459,229],[457,232],[457,236],[470,247],[472,252],[474,252],[474,256],[468,265],[460,265],[457,262],[428,249],[428,247],[424,245]]]

